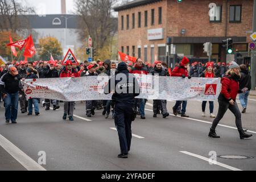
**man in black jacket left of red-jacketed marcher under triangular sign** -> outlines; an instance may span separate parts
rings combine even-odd
[[[59,73],[58,73],[57,69],[55,69],[54,64],[55,64],[54,61],[49,61],[49,65],[47,65],[46,68],[44,68],[44,74],[43,74],[44,78],[58,78],[59,77]],[[46,99],[46,100],[44,100],[44,104],[46,105],[46,110],[49,110],[49,107],[51,106],[51,102],[53,104],[53,110],[60,108],[60,106],[56,100]]]

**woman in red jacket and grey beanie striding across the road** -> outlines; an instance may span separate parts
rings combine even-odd
[[[241,112],[236,102],[237,94],[245,93],[248,90],[247,88],[243,88],[242,90],[239,89],[240,78],[240,67],[236,62],[232,61],[232,63],[229,65],[229,70],[221,79],[222,86],[220,96],[218,97],[218,114],[212,123],[212,127],[210,128],[209,137],[220,138],[220,136],[217,136],[215,129],[218,125],[218,122],[220,122],[220,120],[224,117],[224,114],[228,109],[232,111],[236,117],[236,126],[240,134],[240,139],[253,136],[246,134],[243,130]]]

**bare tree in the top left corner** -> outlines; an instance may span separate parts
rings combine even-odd
[[[28,20],[22,15],[32,13],[35,13],[32,7],[22,6],[15,0],[0,0],[0,31],[16,32],[22,28],[27,28]]]

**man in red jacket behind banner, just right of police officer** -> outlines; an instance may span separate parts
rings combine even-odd
[[[133,68],[131,68],[131,72],[133,74],[141,74],[148,75],[148,69],[146,65],[143,63],[141,58],[136,60],[136,63]],[[146,119],[145,117],[145,100],[143,98],[137,98],[135,106],[139,107],[139,113],[141,114],[141,119]],[[136,107],[137,108],[137,107]]]

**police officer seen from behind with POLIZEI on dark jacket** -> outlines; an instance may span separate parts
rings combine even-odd
[[[130,74],[126,63],[119,63],[115,76],[111,77],[105,86],[105,94],[114,92],[112,100],[114,106],[114,121],[117,127],[121,154],[118,158],[128,158],[131,146],[131,122],[135,98],[139,95],[139,84],[137,78]],[[135,113],[136,114],[136,113]]]

